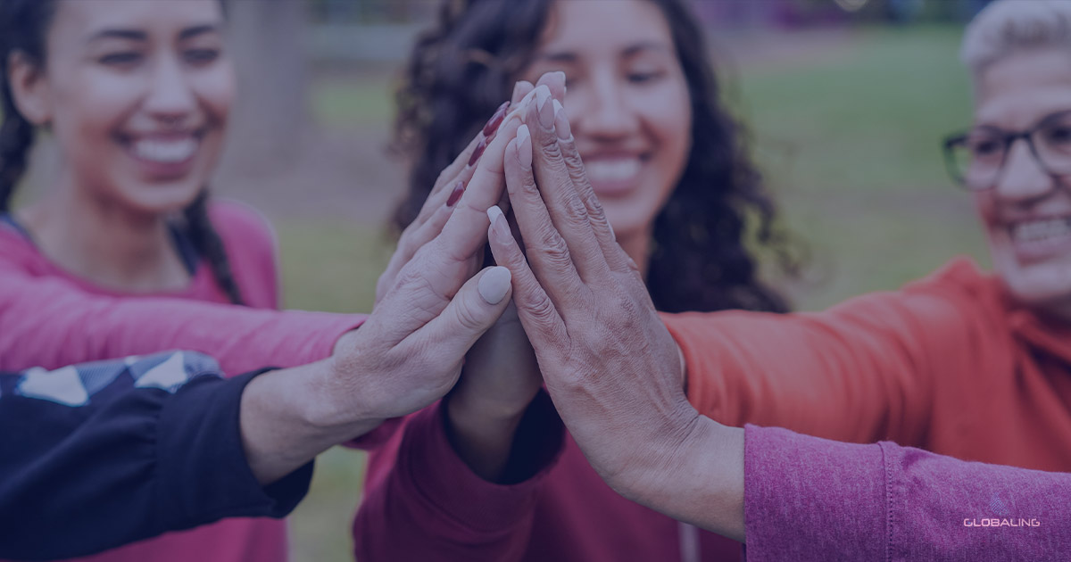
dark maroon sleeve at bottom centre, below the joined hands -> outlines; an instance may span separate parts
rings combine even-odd
[[[369,455],[353,522],[357,559],[519,561],[538,491],[561,450],[560,422],[557,429],[546,431],[553,438],[543,443],[548,460],[538,473],[499,485],[478,476],[454,452],[439,404],[407,417],[392,442]]]

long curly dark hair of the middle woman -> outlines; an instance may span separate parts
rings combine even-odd
[[[555,0],[444,0],[437,25],[413,47],[396,93],[396,151],[412,158],[408,196],[394,213],[412,222],[444,168],[476,135],[531,62]],[[669,22],[692,104],[692,148],[654,221],[647,286],[664,312],[744,308],[787,312],[758,280],[749,248],[797,263],[776,209],[752,165],[746,132],[722,107],[703,30],[684,0],[650,0]],[[751,224],[751,221],[755,221]]]

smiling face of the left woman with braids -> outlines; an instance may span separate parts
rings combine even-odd
[[[215,167],[235,90],[217,0],[62,0],[27,88],[75,188],[135,212],[188,204]],[[36,117],[36,119],[34,119]]]

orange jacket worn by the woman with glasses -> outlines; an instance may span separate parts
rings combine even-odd
[[[1071,470],[1071,325],[959,258],[821,313],[663,315],[704,415]]]

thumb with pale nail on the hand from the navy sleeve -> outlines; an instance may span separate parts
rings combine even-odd
[[[451,356],[463,356],[502,316],[513,292],[511,282],[510,270],[503,267],[484,269],[467,280],[439,316],[414,335]]]

